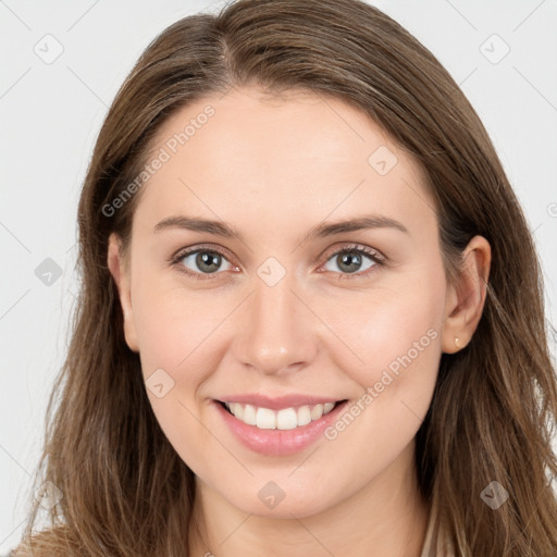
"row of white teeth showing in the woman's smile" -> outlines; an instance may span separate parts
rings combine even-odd
[[[334,408],[335,403],[315,405],[311,408],[309,406],[283,408],[278,411],[240,403],[225,403],[224,405],[238,420],[248,425],[256,425],[260,430],[294,430],[319,420]]]

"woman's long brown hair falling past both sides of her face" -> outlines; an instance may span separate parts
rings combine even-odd
[[[170,114],[253,84],[339,98],[413,154],[436,202],[448,280],[474,235],[490,242],[481,321],[465,349],[442,356],[417,435],[419,485],[457,555],[557,555],[549,483],[557,392],[531,233],[457,84],[399,24],[359,0],[240,0],[218,15],[185,17],[153,40],[126,78],[81,196],[82,289],[36,480],[51,482],[62,498],[42,534],[33,531],[34,503],[25,543],[37,555],[187,553],[194,474],[153,416],[107,267],[109,235],[127,245],[138,195],[113,214],[106,208],[129,193]],[[509,492],[497,510],[480,496],[492,481]]]

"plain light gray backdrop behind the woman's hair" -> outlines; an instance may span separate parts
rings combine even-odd
[[[437,55],[482,117],[534,231],[547,317],[556,323],[557,1],[371,3]],[[67,346],[76,203],[102,119],[160,30],[222,4],[0,0],[0,553],[18,541],[48,395]],[[63,52],[48,60],[58,44]],[[494,63],[505,44],[509,53]],[[59,278],[36,275],[47,258],[60,267]]]

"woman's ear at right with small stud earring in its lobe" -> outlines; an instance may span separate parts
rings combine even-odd
[[[482,317],[492,260],[490,243],[483,236],[474,236],[462,258],[462,272],[457,284],[449,285],[445,302],[442,350],[446,354],[454,354],[470,342]]]

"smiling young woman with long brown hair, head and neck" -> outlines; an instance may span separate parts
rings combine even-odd
[[[379,10],[165,29],[100,132],[79,247],[17,555],[556,553],[533,242],[468,100]]]

